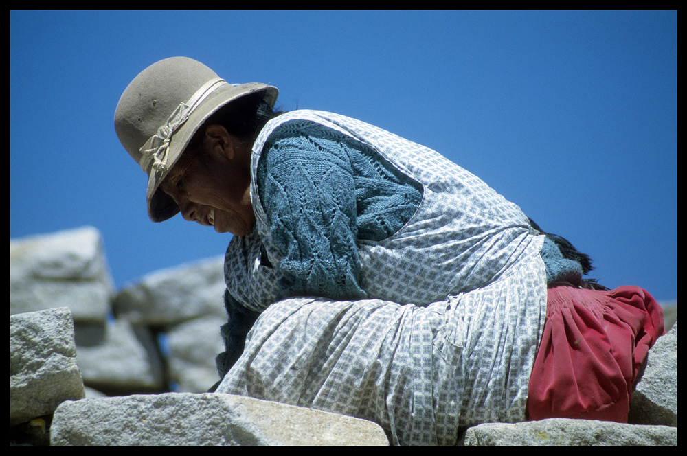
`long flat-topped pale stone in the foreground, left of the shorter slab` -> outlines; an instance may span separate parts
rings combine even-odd
[[[374,423],[227,394],[169,393],[64,402],[52,445],[387,444]]]

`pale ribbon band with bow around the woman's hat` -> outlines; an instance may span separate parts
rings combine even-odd
[[[156,171],[165,172],[167,170],[167,159],[170,141],[172,135],[179,129],[180,126],[188,120],[188,116],[192,113],[201,102],[207,98],[207,95],[214,92],[218,87],[227,84],[227,81],[222,78],[212,78],[205,82],[203,86],[189,98],[188,102],[181,103],[174,109],[172,115],[167,120],[166,124],[157,129],[157,133],[151,136],[146,144],[139,150],[141,151],[141,159],[138,164],[147,172],[150,160],[153,160],[153,168]],[[152,170],[151,170],[152,171]]]

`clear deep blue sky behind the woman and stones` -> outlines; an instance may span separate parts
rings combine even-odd
[[[93,225],[117,287],[224,253],[146,214],[115,106],[171,56],[425,144],[677,298],[677,12],[10,12],[10,238]]]

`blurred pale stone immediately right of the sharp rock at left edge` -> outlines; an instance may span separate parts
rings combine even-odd
[[[162,361],[147,328],[126,320],[103,326],[102,341],[77,345],[84,383],[102,391],[163,391]]]

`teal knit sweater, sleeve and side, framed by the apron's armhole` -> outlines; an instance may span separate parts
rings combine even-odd
[[[420,185],[363,144],[317,124],[282,126],[258,165],[280,253],[280,298],[364,299],[357,242],[383,240],[416,211]]]

